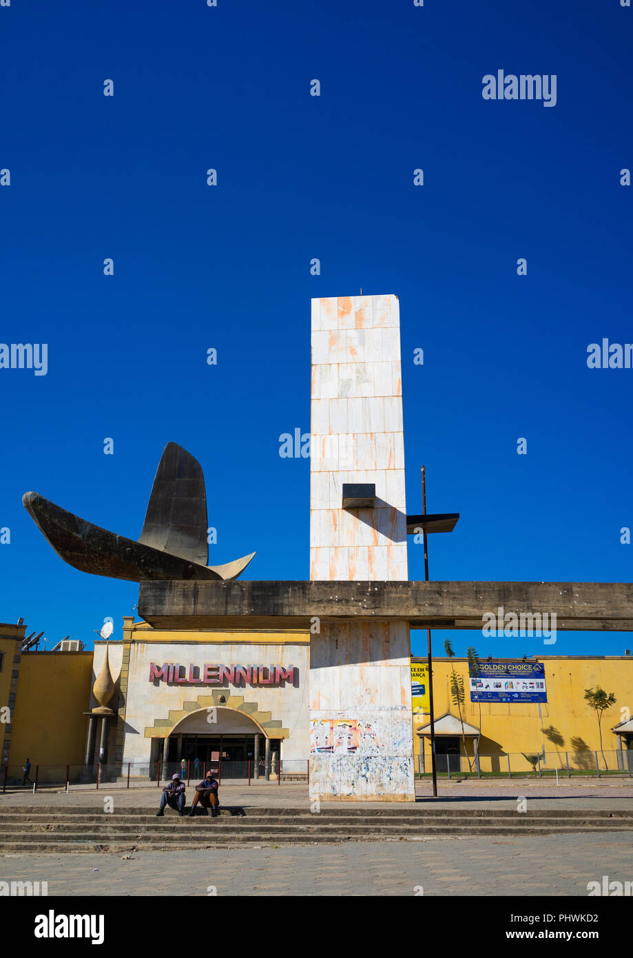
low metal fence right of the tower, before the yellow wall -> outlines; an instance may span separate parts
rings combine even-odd
[[[586,749],[582,751],[497,752],[477,755],[438,755],[438,775],[446,778],[573,778],[633,777],[633,751],[614,749]],[[430,755],[418,755],[418,778],[431,775]]]

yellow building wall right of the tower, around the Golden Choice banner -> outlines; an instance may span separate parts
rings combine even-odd
[[[521,664],[525,660],[503,661]],[[626,751],[633,749],[633,657],[542,655],[527,662],[543,666],[546,701],[471,701],[467,659],[434,658],[438,769],[467,772],[472,766],[476,772],[476,752],[484,774],[507,774],[509,769],[530,772],[532,764],[525,755],[539,756],[536,769],[558,768],[564,774],[568,764],[571,771],[595,772],[596,753],[600,770],[605,764],[609,770],[626,770],[627,763],[633,769],[633,762],[626,756]],[[426,659],[412,658],[414,674],[419,676],[420,669],[428,674],[425,667]],[[453,670],[463,685],[460,708],[452,694]],[[584,699],[585,690],[597,686],[616,696],[616,703],[601,718],[601,747],[597,713]],[[426,699],[419,698],[418,712],[414,713],[414,746],[416,769],[423,773],[431,769],[429,719]]]

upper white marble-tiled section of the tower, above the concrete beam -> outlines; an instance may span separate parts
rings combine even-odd
[[[310,579],[408,577],[399,322],[396,296],[312,300]],[[344,482],[375,512],[344,512]]]

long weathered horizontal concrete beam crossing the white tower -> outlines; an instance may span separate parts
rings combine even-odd
[[[406,619],[481,629],[484,616],[556,614],[556,628],[633,631],[630,582],[141,582],[156,628],[309,628],[310,620]]]

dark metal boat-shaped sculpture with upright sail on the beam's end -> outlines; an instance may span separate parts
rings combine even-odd
[[[138,542],[68,513],[36,492],[22,502],[57,555],[81,572],[142,582],[237,579],[255,553],[207,565],[207,495],[199,463],[175,443],[165,446]]]

